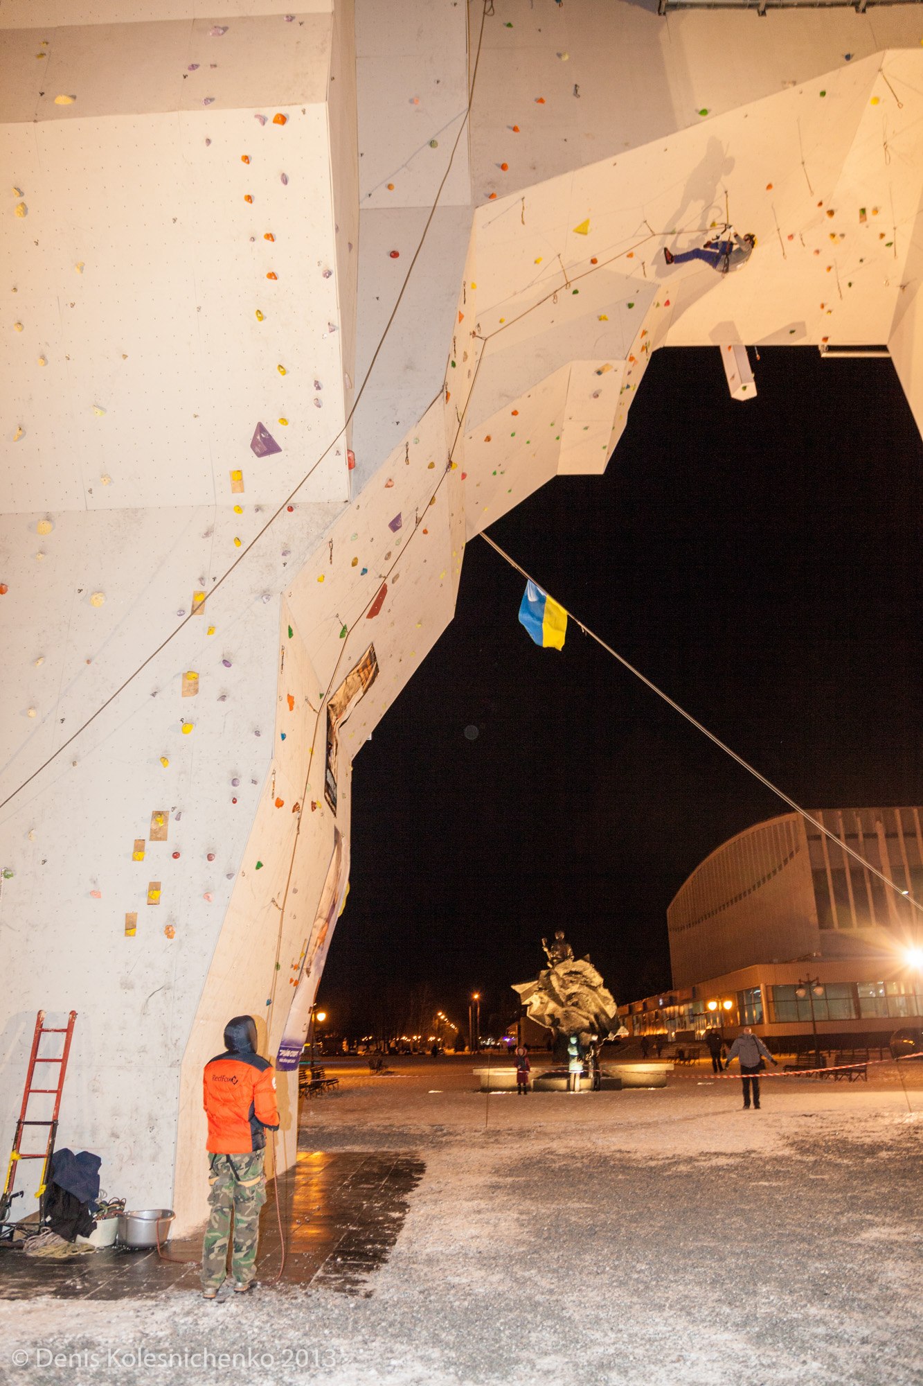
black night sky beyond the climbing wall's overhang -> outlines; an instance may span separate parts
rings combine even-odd
[[[657,352],[606,475],[491,534],[805,808],[919,804],[920,437],[888,360],[761,356],[735,403],[717,349]],[[334,1027],[427,984],[506,1023],[556,927],[619,1002],[667,987],[679,886],[787,812],[572,622],[538,649],[522,589],[471,541],[455,621],[356,758]]]

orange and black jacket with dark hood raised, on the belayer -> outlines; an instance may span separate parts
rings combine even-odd
[[[273,1066],[255,1052],[254,1017],[229,1020],[225,1044],[225,1053],[209,1059],[202,1073],[208,1149],[213,1155],[262,1150],[265,1130],[279,1130],[279,1107]]]

